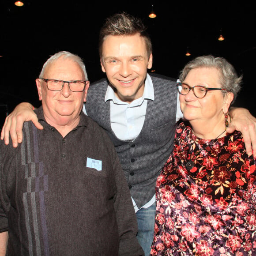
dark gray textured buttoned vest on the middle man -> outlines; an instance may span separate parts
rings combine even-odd
[[[143,128],[134,141],[118,139],[111,129],[110,102],[105,102],[108,81],[92,83],[85,104],[89,117],[95,120],[113,141],[131,196],[137,207],[149,202],[155,193],[156,179],[173,148],[176,129],[176,80],[151,75],[154,101],[148,100]]]

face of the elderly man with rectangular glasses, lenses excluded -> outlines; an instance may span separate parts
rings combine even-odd
[[[85,80],[80,66],[73,60],[60,57],[45,68],[45,79],[59,79],[64,81]],[[39,100],[42,101],[44,116],[51,124],[65,124],[79,118],[83,102],[86,101],[89,81],[82,92],[72,92],[68,83],[60,91],[47,89],[46,82],[37,79]]]

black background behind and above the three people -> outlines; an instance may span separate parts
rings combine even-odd
[[[2,124],[19,102],[38,107],[34,80],[50,55],[67,50],[81,56],[90,82],[105,76],[98,56],[98,32],[105,18],[126,11],[140,17],[153,43],[155,73],[178,77],[196,56],[225,57],[242,74],[235,105],[256,116],[256,11],[247,1],[98,1],[0,0],[0,109]],[[154,5],[155,19],[148,18]],[[224,41],[218,41],[222,30]],[[191,56],[185,56],[187,49]]]

